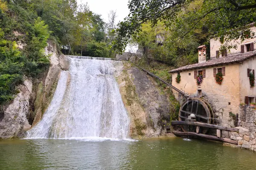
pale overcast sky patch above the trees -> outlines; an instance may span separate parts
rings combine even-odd
[[[108,22],[108,13],[113,10],[116,11],[116,23],[122,21],[129,14],[128,0],[77,0],[80,3],[88,3],[90,11],[101,14],[105,22]]]

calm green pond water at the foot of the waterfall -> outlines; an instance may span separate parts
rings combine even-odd
[[[0,170],[255,170],[256,153],[182,138],[0,141]]]

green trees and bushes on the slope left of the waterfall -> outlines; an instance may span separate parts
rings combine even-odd
[[[23,76],[38,78],[49,68],[49,39],[66,54],[109,57],[105,25],[76,0],[0,1],[0,104],[12,99]]]

